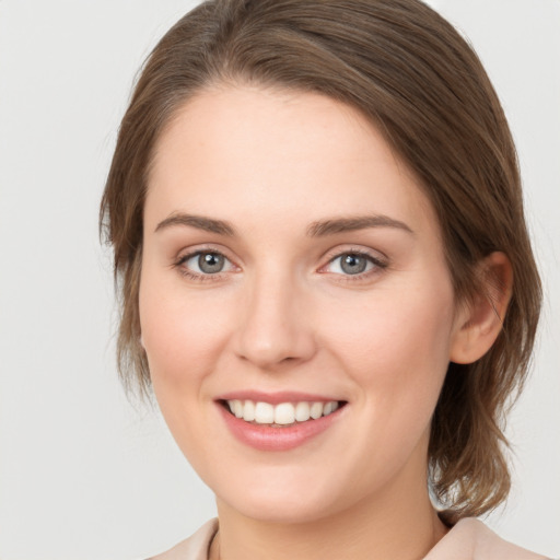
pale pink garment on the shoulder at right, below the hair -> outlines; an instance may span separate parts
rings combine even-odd
[[[481,521],[460,520],[424,560],[546,560],[500,538]]]

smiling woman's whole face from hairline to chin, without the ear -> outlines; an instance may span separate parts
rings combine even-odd
[[[142,340],[219,503],[298,522],[425,491],[454,312],[434,211],[354,109],[214,89],[162,133]]]

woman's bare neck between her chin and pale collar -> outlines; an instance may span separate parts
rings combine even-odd
[[[445,535],[425,483],[363,500],[305,523],[246,517],[218,500],[220,532],[211,558],[220,560],[419,560]],[[397,498],[397,499],[396,499]]]

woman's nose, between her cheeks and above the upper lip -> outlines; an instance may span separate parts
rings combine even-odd
[[[254,280],[243,298],[237,355],[268,371],[310,360],[316,352],[310,298],[289,275]]]

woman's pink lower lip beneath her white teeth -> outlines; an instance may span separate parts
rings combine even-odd
[[[221,415],[233,435],[242,443],[259,451],[289,451],[303,445],[336,422],[341,408],[316,420],[296,422],[284,428],[254,424],[233,416],[221,404]]]

